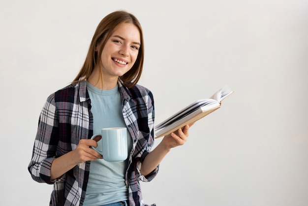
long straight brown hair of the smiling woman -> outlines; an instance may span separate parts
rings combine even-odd
[[[99,66],[100,78],[102,77],[101,64],[100,64],[102,50],[109,37],[122,23],[132,23],[138,28],[140,33],[141,45],[139,47],[139,52],[135,64],[123,76],[120,76],[120,79],[123,81],[124,86],[128,88],[133,87],[137,84],[143,69],[143,60],[144,60],[143,32],[138,19],[134,15],[126,11],[112,12],[107,16],[105,16],[100,21],[92,37],[92,41],[89,47],[85,63],[80,69],[78,75],[75,77],[73,82],[80,82],[89,78],[89,76],[91,75],[93,69],[97,64]],[[100,47],[100,50],[95,51],[96,45],[101,41],[102,41],[102,46]]]

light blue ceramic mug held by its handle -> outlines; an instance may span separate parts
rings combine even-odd
[[[103,159],[108,162],[121,162],[127,159],[127,133],[126,127],[114,127],[101,129],[100,134],[91,137],[101,136],[101,148],[92,147]]]

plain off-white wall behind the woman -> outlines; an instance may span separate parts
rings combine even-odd
[[[307,206],[307,0],[1,0],[0,205],[49,204],[52,186],[27,170],[40,110],[118,9],[143,25],[140,84],[154,93],[156,124],[224,85],[235,91],[142,183],[145,201]]]

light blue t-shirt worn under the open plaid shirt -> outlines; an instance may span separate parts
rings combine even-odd
[[[87,89],[92,102],[93,134],[100,134],[102,128],[126,127],[118,86],[111,90],[100,90],[88,82]],[[128,132],[127,139],[129,153],[132,139]],[[97,143],[100,144],[100,141]],[[84,206],[100,206],[128,199],[125,184],[127,161],[107,162],[98,159],[91,162]]]

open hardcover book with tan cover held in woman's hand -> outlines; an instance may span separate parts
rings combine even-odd
[[[187,124],[193,123],[206,115],[212,113],[216,109],[220,108],[221,102],[233,94],[227,86],[218,90],[209,99],[198,100],[194,103],[189,104],[181,111],[172,115],[165,121],[154,127],[156,137],[162,137],[169,135],[170,133],[184,127]]]

